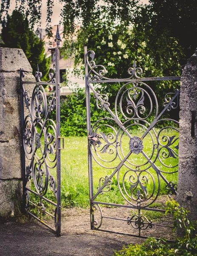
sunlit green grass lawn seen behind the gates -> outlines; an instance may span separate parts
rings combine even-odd
[[[132,136],[138,136],[140,137],[141,134],[143,134],[143,131],[133,131]],[[168,131],[166,133],[168,137],[172,137],[173,135],[177,135],[174,131]],[[102,140],[101,140],[102,141]],[[147,135],[143,139],[143,150],[146,152],[146,154],[150,157],[152,152],[153,144],[151,142],[151,136]],[[62,207],[88,207],[89,206],[89,175],[88,175],[88,157],[87,157],[87,138],[86,137],[65,137],[64,138],[64,150],[61,151],[61,203]],[[123,148],[123,154],[126,156],[129,152],[128,148],[128,142],[129,139],[127,136],[123,136],[122,140],[122,148]],[[154,141],[155,143],[155,141]],[[174,147],[178,144],[178,141],[174,143],[171,147]],[[104,144],[103,144],[104,145]],[[101,145],[102,146],[102,145]],[[120,148],[119,148],[120,149]],[[174,148],[173,148],[174,149]],[[163,150],[165,151],[165,149]],[[113,154],[112,154],[113,155]],[[103,160],[111,160],[112,155],[103,153],[100,154]],[[156,153],[153,154],[153,159],[155,157]],[[121,156],[123,158],[123,155]],[[97,158],[98,160],[98,158]],[[146,159],[143,157],[142,154],[131,154],[131,156],[128,159],[130,163],[140,165],[141,163],[146,163]],[[99,160],[101,164],[104,164],[106,167],[114,167],[117,166],[118,163],[120,163],[120,158],[117,157],[112,163],[106,163],[104,161]],[[175,159],[174,157],[166,158],[165,164],[170,166],[174,163],[177,163],[178,158]],[[113,166],[114,164],[114,166]],[[166,168],[165,166],[157,160],[155,164],[160,168],[162,171],[169,172],[169,168]],[[148,166],[148,165],[145,165]],[[120,169],[120,187],[123,191],[123,175],[128,170],[128,167],[123,166]],[[99,180],[101,177],[106,177],[106,175],[111,175],[111,173],[114,171],[114,169],[106,169],[99,164],[97,164],[93,160],[93,186],[94,186],[94,194],[97,192],[97,187],[99,186]],[[156,191],[158,189],[158,178],[157,173],[152,169],[148,169],[148,171],[152,174],[152,177],[155,180],[155,188]],[[51,174],[56,177],[55,169],[50,170]],[[130,186],[131,182],[129,180],[129,177],[131,175],[134,175],[134,172],[128,172],[128,175],[125,177],[125,187],[129,195],[131,195]],[[148,193],[151,193],[153,190],[153,182],[151,182],[151,175],[147,174],[146,172],[143,172],[141,175],[141,178],[143,175],[146,175],[148,177],[148,184],[146,184],[146,189]],[[177,182],[177,173],[174,174],[164,174],[168,181],[172,181],[174,183]],[[136,178],[136,177],[135,177]],[[136,181],[132,180],[131,181]],[[163,179],[160,178],[161,184],[160,184],[160,195],[166,195],[166,183],[163,181]],[[138,185],[138,188],[140,189],[140,192],[143,193],[143,190]],[[137,189],[134,191],[134,195],[137,193]],[[124,192],[125,195],[125,192]],[[156,195],[156,192],[154,192],[154,196]],[[53,192],[48,191],[47,198],[50,200],[55,201]],[[125,197],[129,200],[128,196],[125,195]],[[96,201],[102,201],[107,203],[114,203],[114,204],[125,204],[127,203],[126,200],[121,195],[119,188],[117,186],[117,174],[114,175],[112,178],[112,184],[111,184],[111,190],[109,192],[104,192],[103,195],[98,195],[96,198]],[[159,216],[158,216],[159,218]]]

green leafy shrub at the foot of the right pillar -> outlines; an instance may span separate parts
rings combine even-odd
[[[174,230],[180,227],[184,236],[174,243],[168,243],[166,239],[148,238],[143,244],[130,244],[123,247],[115,256],[196,256],[197,255],[197,221],[190,221],[187,217],[188,210],[180,207],[174,200],[166,202],[168,212],[174,216]]]

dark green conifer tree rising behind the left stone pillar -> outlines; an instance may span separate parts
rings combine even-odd
[[[2,47],[23,49],[28,58],[33,74],[37,71],[37,64],[45,79],[50,67],[50,58],[44,54],[44,42],[39,39],[29,28],[29,21],[23,15],[14,10],[12,15],[3,19],[1,38]]]

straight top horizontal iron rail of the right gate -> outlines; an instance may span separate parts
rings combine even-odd
[[[180,76],[162,76],[162,77],[144,77],[137,79],[109,79],[109,80],[94,80],[88,81],[89,84],[100,84],[100,83],[116,83],[116,82],[140,82],[140,81],[165,81],[165,80],[180,80]]]

